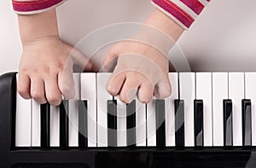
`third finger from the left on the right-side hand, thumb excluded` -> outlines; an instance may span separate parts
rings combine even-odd
[[[154,86],[150,82],[144,81],[138,90],[139,101],[141,101],[142,103],[148,103],[152,100],[153,96]]]

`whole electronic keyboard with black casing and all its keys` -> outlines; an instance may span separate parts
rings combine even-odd
[[[256,72],[170,72],[172,96],[143,104],[105,89],[110,73],[74,73],[59,107],[0,77],[0,167],[255,167]]]

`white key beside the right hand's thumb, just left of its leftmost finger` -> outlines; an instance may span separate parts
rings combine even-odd
[[[106,83],[111,73],[97,73],[97,147],[108,147],[107,101],[113,96],[108,94]]]

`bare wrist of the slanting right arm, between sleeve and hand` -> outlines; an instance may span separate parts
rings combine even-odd
[[[177,25],[160,10],[155,9],[140,30],[128,40],[141,43],[140,46],[146,46],[147,49],[144,50],[157,50],[162,55],[168,55],[183,31],[183,27]]]

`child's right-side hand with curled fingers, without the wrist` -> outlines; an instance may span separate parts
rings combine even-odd
[[[108,79],[108,92],[125,103],[135,96],[143,103],[148,103],[153,96],[165,98],[171,95],[168,78],[169,61],[157,49],[138,42],[121,42],[113,46],[105,60],[119,55],[117,66]]]

